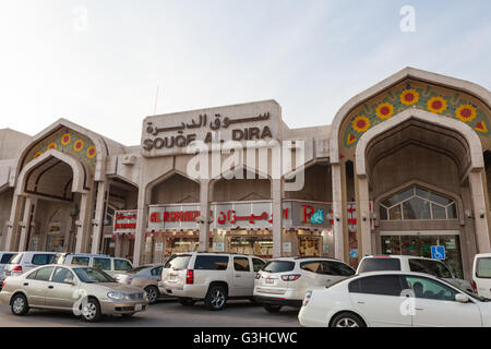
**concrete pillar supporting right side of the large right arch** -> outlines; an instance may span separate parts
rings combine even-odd
[[[482,170],[469,173],[469,186],[472,198],[472,208],[476,224],[476,240],[479,253],[491,252],[488,213],[486,210],[484,188],[482,182]]]

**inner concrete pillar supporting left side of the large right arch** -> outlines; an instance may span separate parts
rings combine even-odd
[[[357,197],[357,221],[361,229],[361,251],[359,251],[359,258],[366,254],[372,254],[372,233],[370,230],[370,195],[369,181],[366,176],[356,178],[358,184]]]

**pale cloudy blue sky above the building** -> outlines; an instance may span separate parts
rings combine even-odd
[[[65,118],[137,145],[146,116],[264,99],[290,128],[323,125],[405,67],[490,89],[490,12],[489,0],[0,0],[0,129],[34,135]]]

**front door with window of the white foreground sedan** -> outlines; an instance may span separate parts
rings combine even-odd
[[[455,296],[460,293],[457,289],[422,276],[407,275],[405,278],[415,294],[414,326],[480,327],[482,325],[479,308],[472,300],[468,303],[455,300]]]

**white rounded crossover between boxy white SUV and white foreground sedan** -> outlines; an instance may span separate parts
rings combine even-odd
[[[283,257],[271,260],[258,273],[254,300],[271,313],[282,306],[302,305],[307,289],[328,287],[355,275],[349,265],[333,258]]]

